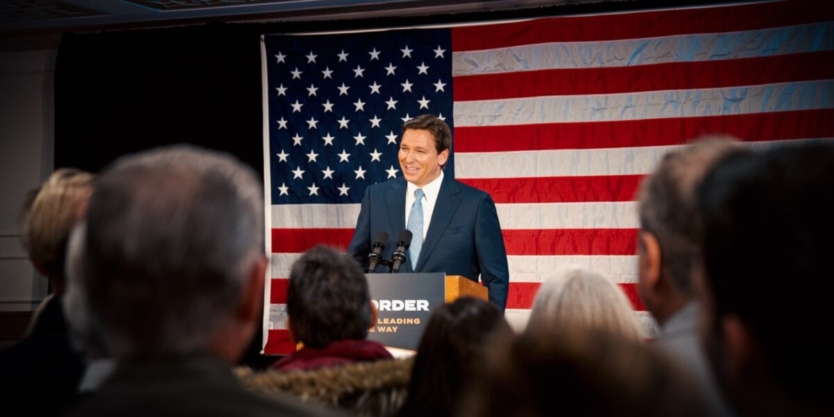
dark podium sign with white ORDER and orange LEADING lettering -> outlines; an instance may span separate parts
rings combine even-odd
[[[445,274],[365,274],[379,311],[368,339],[416,350],[435,307],[445,304]]]

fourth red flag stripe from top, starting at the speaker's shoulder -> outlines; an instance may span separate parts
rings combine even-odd
[[[580,203],[633,201],[643,177],[643,175],[600,175],[465,178],[459,181],[490,193],[495,203]]]

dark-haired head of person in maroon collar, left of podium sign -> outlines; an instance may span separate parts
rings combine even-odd
[[[368,281],[349,256],[323,246],[310,249],[289,274],[287,313],[304,346],[365,339],[371,324]]]

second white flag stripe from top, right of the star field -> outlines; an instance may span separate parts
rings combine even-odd
[[[834,80],[455,102],[455,126],[613,122],[818,108],[834,108]]]

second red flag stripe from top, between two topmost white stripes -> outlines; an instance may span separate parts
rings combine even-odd
[[[809,63],[813,63],[809,65]],[[834,52],[455,77],[455,101],[725,88],[831,78]]]

